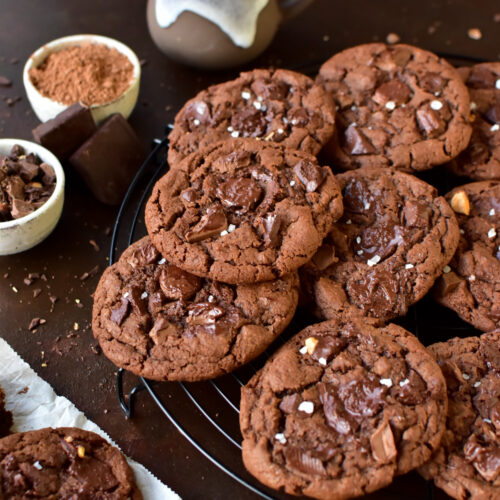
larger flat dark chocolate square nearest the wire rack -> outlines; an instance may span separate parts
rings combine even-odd
[[[69,162],[99,201],[118,205],[144,158],[137,135],[116,113],[71,155]]]

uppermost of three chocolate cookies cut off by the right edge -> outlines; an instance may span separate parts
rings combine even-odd
[[[456,175],[476,181],[500,180],[500,63],[459,68],[471,98],[472,137],[449,164]]]

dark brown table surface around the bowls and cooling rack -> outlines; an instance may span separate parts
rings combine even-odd
[[[350,45],[385,40],[388,33],[435,52],[498,60],[497,12],[500,5],[495,0],[317,0],[309,10],[282,26],[270,48],[248,67],[296,67],[320,62]],[[470,28],[479,28],[482,38],[469,38]],[[0,14],[0,75],[10,78],[13,85],[0,88],[0,137],[31,139],[31,129],[38,120],[22,86],[24,61],[45,42],[76,33],[117,38],[146,61],[139,102],[130,118],[146,147],[150,147],[153,138],[164,135],[165,125],[173,121],[184,101],[203,87],[232,78],[238,72],[199,71],[168,60],[149,37],[143,1],[4,1]],[[7,99],[16,97],[21,100],[9,105]],[[68,397],[107,431],[125,453],[143,463],[183,498],[256,498],[180,436],[147,393],[138,395],[134,418],[125,419],[116,398],[116,369],[96,350],[90,329],[91,294],[99,275],[79,279],[94,266],[99,265],[102,270],[107,265],[109,229],[117,209],[95,201],[70,168],[66,168],[66,175],[66,203],[56,230],[30,251],[0,257],[0,336],[58,394]],[[23,280],[30,272],[44,273],[47,280],[39,279],[28,286]],[[35,288],[42,289],[36,299]],[[51,295],[59,299],[52,310]],[[30,332],[28,325],[34,317],[47,322]],[[0,370],[1,363],[0,360]],[[128,379],[129,385],[134,383],[132,376]],[[196,426],[199,415],[185,398],[180,399],[178,386],[162,386],[174,407],[175,398],[179,398],[180,421]],[[222,413],[226,411],[227,408],[221,408]],[[197,429],[207,449],[216,449],[226,463],[241,470],[234,453],[225,456],[224,442],[217,433],[203,433],[203,427]],[[425,495],[425,482],[410,474],[369,498],[421,499]],[[445,495],[436,492],[435,498]]]

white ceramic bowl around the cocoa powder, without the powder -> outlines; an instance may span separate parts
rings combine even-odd
[[[113,38],[108,38],[106,36],[72,35],[52,40],[52,42],[40,47],[37,51],[31,54],[24,65],[24,88],[26,89],[26,94],[28,95],[31,107],[40,121],[46,122],[47,120],[54,118],[61,111],[68,108],[69,105],[54,101],[53,99],[49,99],[48,97],[44,97],[40,94],[31,82],[29,77],[30,69],[38,67],[50,53],[58,52],[66,47],[73,47],[82,43],[97,43],[114,48],[118,52],[127,56],[128,60],[134,67],[130,85],[128,89],[120,97],[118,97],[118,99],[104,104],[95,104],[90,107],[95,122],[98,124],[113,113],[121,113],[124,118],[128,118],[130,113],[132,113],[132,110],[137,102],[137,96],[139,95],[139,82],[141,79],[141,65],[134,51],[118,40],[114,40]]]

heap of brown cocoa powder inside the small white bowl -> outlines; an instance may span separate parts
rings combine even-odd
[[[49,54],[29,76],[45,97],[91,106],[120,97],[129,87],[133,71],[129,59],[116,49],[87,43]]]

